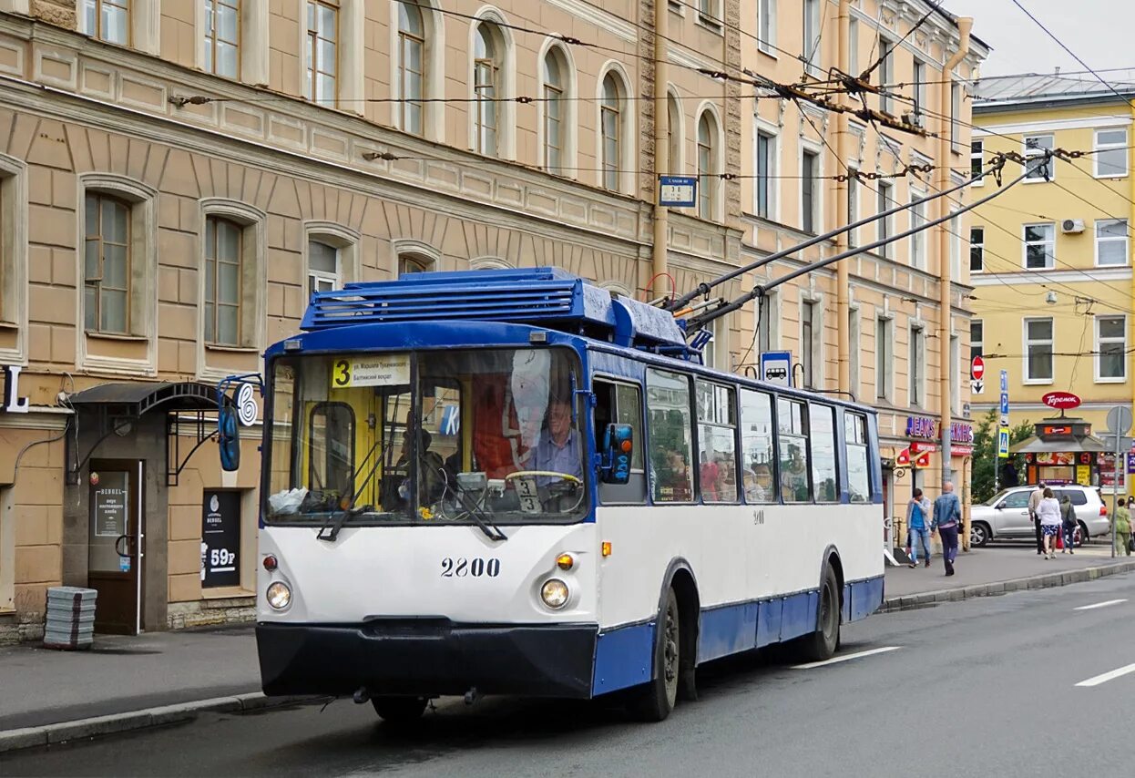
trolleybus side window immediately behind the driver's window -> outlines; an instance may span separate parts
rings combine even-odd
[[[646,407],[651,496],[655,502],[690,502],[693,500],[690,379],[680,373],[648,370]]]

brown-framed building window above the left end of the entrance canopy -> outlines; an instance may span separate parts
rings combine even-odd
[[[86,195],[84,326],[87,332],[131,332],[131,203]]]

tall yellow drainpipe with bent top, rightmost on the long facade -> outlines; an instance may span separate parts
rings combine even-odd
[[[958,50],[953,52],[947,61],[945,66],[942,68],[942,91],[939,94],[939,115],[942,117],[941,132],[939,134],[939,154],[938,154],[938,187],[939,191],[947,189],[950,185],[950,154],[952,153],[950,149],[950,128],[951,128],[951,94],[953,92],[953,68],[965,59],[966,55],[969,53],[969,31],[974,27],[974,19],[968,16],[958,17]],[[959,101],[960,107],[960,101]],[[958,125],[960,129],[960,124]],[[968,157],[967,157],[968,159]],[[939,215],[945,216],[950,210],[949,198],[939,198],[940,203]],[[953,383],[952,376],[950,375],[950,331],[953,323],[952,307],[950,304],[952,298],[952,275],[953,267],[950,261],[950,223],[943,221],[939,226],[939,241],[938,241],[938,263],[939,263],[939,325],[938,325],[938,353],[939,353],[939,403],[941,408],[941,413],[939,420],[942,427],[942,485],[951,479],[950,465],[952,457],[950,451],[952,449],[952,441],[950,437],[950,424],[953,420],[953,396],[951,393],[951,384]],[[960,348],[960,343],[959,343]],[[960,354],[959,354],[960,357]],[[960,361],[960,359],[959,359]],[[960,382],[960,377],[959,377]],[[960,387],[959,387],[960,391]],[[965,476],[965,465],[962,463],[962,470],[960,474]],[[955,488],[958,490],[960,484],[956,484]],[[965,511],[962,511],[962,522],[961,522],[961,539],[965,547],[969,547],[969,526],[966,521]]]

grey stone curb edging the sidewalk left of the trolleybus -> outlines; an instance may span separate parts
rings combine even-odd
[[[188,721],[199,713],[244,713],[294,703],[311,703],[326,697],[267,697],[260,692],[237,694],[226,697],[210,697],[174,705],[160,705],[137,711],[95,716],[74,721],[25,727],[0,731],[0,754],[19,748],[54,745],[67,741],[98,737],[132,729],[145,729],[162,725]]]

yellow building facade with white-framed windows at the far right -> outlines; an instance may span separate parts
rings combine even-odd
[[[1027,160],[1044,149],[1071,158],[1056,159],[1048,169],[1040,159],[1026,161],[1024,182],[974,211],[970,343],[972,355],[982,354],[985,363],[984,386],[973,393],[975,417],[999,409],[1001,370],[1008,374],[1012,426],[1059,417],[1044,404],[1050,393],[1079,398],[1082,404],[1066,415],[1083,418],[1096,436],[1107,429],[1109,410],[1132,405],[1135,186],[1128,93],[1135,94],[1130,85],[1113,91],[1098,81],[1060,76],[986,80],[978,90],[974,165],[998,152]],[[1006,170],[1016,177],[1020,166],[1009,162]],[[1067,463],[1043,459],[1032,457],[1022,482],[1066,475],[1051,468]],[[1075,463],[1084,465],[1079,458]],[[1102,465],[1100,472],[1092,468],[1092,485],[1110,491],[1110,465]],[[1120,472],[1121,488],[1124,480]]]

